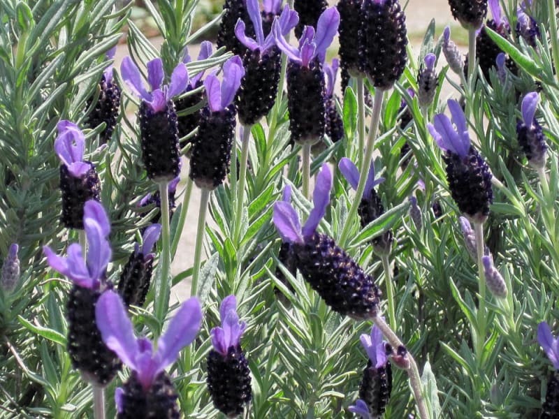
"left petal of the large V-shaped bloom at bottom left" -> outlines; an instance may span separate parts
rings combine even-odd
[[[103,342],[124,364],[137,371],[138,341],[119,295],[113,291],[101,294],[95,307],[95,319]]]

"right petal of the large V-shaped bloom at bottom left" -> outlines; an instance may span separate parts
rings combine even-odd
[[[154,357],[157,360],[156,374],[175,362],[181,349],[194,341],[201,325],[200,302],[198,298],[191,297],[182,303],[166,332],[157,341],[157,353]]]

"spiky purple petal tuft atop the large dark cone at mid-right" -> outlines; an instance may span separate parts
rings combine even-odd
[[[466,117],[457,101],[449,100],[447,103],[452,115],[452,122],[447,115],[437,114],[434,118],[435,124],[427,126],[441,149],[465,157],[470,150],[470,135],[467,133]]]

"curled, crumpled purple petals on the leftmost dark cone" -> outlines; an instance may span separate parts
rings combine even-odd
[[[66,119],[57,124],[58,136],[55,140],[55,152],[73,177],[82,177],[91,168],[83,161],[85,136],[76,124]]]

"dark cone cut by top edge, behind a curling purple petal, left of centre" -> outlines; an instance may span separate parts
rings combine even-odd
[[[250,20],[245,0],[225,0],[223,8],[225,14],[222,17],[222,22],[219,24],[219,31],[217,32],[217,47],[226,47],[226,50],[242,57],[247,51],[247,47],[242,45],[237,36],[235,36],[235,24],[237,24],[237,21],[240,19],[245,22],[245,34],[249,38],[256,38],[254,25],[252,20]]]

